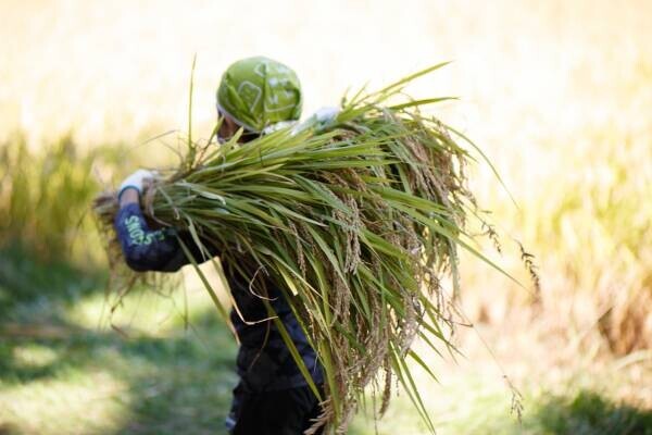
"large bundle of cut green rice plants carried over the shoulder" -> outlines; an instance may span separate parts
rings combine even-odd
[[[468,216],[479,219],[464,172],[471,154],[462,144],[473,144],[419,111],[446,98],[397,102],[406,84],[440,66],[343,99],[326,126],[283,128],[246,144],[238,134],[221,145],[216,127],[206,145],[189,140],[178,169],[143,195],[153,222],[189,232],[206,252],[205,240],[218,248],[220,273],[249,281],[262,271],[277,284],[324,366],[319,424],[329,431],[346,432],[369,386],[381,414],[394,376],[432,428],[409,359],[430,370],[411,346],[421,337],[436,351],[438,343],[452,350],[440,282],[456,274],[460,248],[489,261],[465,232]],[[96,201],[106,227],[116,210],[115,194]],[[251,285],[265,295],[259,279]]]

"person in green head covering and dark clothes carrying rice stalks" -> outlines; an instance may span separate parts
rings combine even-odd
[[[240,127],[242,141],[251,140],[278,123],[296,122],[301,115],[301,87],[292,70],[266,58],[250,58],[230,65],[217,89],[217,111],[224,117],[218,139],[226,140]],[[187,264],[176,235],[202,256],[192,238],[174,228],[150,229],[139,206],[143,181],[153,174],[139,170],[120,189],[120,212],[115,219],[127,264],[136,271],[174,272]],[[209,244],[213,254],[220,252]],[[242,264],[252,259],[242,258]],[[253,269],[255,270],[255,269]],[[312,425],[321,411],[280,334],[268,318],[262,300],[249,289],[249,282],[225,270],[241,316],[234,310],[230,320],[241,346],[237,357],[240,377],[234,389],[231,411],[226,420],[230,434],[296,435]],[[262,275],[262,274],[259,274]],[[252,276],[253,277],[253,276]],[[264,278],[263,279],[267,279]],[[310,347],[297,319],[272,282],[265,283],[272,307],[297,346],[315,385],[324,383],[315,351]]]

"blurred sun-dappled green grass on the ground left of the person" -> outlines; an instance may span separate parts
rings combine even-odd
[[[212,311],[136,294],[112,318],[124,337],[89,315],[106,312],[101,275],[23,253],[4,251],[0,274],[4,295],[35,286],[0,321],[0,434],[224,433],[235,343]],[[14,288],[4,272],[18,265],[35,279]],[[45,273],[58,276],[49,288]]]

